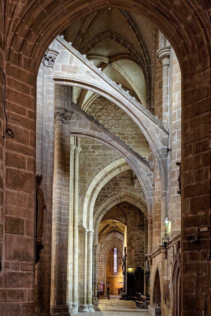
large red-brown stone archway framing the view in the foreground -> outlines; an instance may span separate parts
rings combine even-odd
[[[1,4],[0,66],[6,73],[6,106],[9,127],[15,137],[6,136],[0,142],[0,224],[3,231],[0,236],[3,239],[3,276],[0,277],[5,291],[11,287],[14,289],[14,295],[7,298],[0,311],[11,314],[15,305],[16,314],[33,315],[35,88],[42,56],[70,22],[106,7],[128,10],[150,19],[168,38],[179,60],[182,72],[182,315],[191,312],[200,315],[205,301],[206,313],[210,314],[210,242],[205,240],[200,251],[196,244],[184,242],[186,234],[195,234],[193,222],[197,227],[210,224],[211,27],[210,4],[206,0],[22,0]],[[0,83],[2,95],[2,76]],[[24,163],[20,168],[16,161],[21,159]],[[24,235],[18,233],[15,239],[11,230],[14,218],[27,227]],[[22,247],[29,250],[27,267],[25,261],[22,262]],[[197,275],[193,293],[190,293],[185,285],[190,278],[195,278],[196,264],[191,262],[195,259],[200,259],[201,266],[206,267],[207,278],[204,282],[203,274]],[[18,271],[11,269],[14,260],[20,265]],[[15,284],[14,278],[17,280]],[[22,288],[22,301],[19,303],[14,302],[18,288]]]

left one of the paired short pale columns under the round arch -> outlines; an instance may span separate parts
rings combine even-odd
[[[86,277],[87,277],[87,232],[88,229],[83,230],[83,284],[82,284],[82,304],[80,305],[79,312],[88,312],[86,304]]]

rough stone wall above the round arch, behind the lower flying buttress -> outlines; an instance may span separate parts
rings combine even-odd
[[[148,159],[149,145],[143,133],[122,109],[99,96],[89,106],[87,112]],[[82,221],[84,192],[88,183],[103,167],[119,159],[120,156],[107,146],[86,138],[81,138],[80,147],[82,151],[79,159],[79,216]]]

